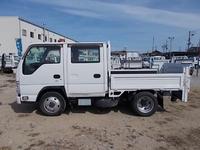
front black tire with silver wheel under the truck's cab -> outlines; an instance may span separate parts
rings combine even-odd
[[[46,116],[58,116],[64,112],[66,101],[58,92],[46,92],[39,101],[39,110]]]

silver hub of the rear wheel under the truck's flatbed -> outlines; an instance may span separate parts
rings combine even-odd
[[[142,113],[149,113],[154,108],[154,101],[149,96],[143,96],[139,98],[137,108]]]

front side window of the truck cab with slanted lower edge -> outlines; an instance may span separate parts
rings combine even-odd
[[[57,63],[60,63],[60,46],[33,46],[25,55],[23,74],[32,74],[43,64]]]

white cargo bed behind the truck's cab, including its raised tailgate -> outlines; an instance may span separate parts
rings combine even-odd
[[[122,91],[155,90],[155,91],[183,91],[190,89],[190,76],[186,73],[157,73],[155,69],[112,70],[110,89]],[[187,101],[187,95],[182,97]]]

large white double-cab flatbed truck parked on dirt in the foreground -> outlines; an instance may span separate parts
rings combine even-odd
[[[33,44],[20,61],[17,102],[37,103],[45,115],[60,115],[66,104],[114,107],[130,103],[138,115],[150,116],[163,96],[187,101],[188,69],[157,73],[148,69],[111,70],[109,43]]]

